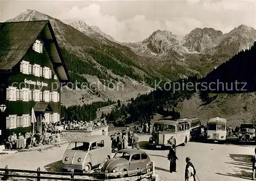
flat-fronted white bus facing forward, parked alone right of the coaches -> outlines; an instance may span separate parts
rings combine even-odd
[[[224,118],[210,118],[207,122],[207,140],[224,142],[227,135],[227,120]]]

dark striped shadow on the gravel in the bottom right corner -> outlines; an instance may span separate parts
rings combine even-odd
[[[233,166],[233,173],[216,173],[218,175],[232,176],[236,178],[251,179],[252,177],[252,155],[248,154],[229,154],[229,157],[232,159],[231,162],[225,162]]]

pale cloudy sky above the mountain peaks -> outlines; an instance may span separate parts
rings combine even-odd
[[[256,0],[0,0],[0,21],[27,9],[35,9],[67,24],[83,20],[120,42],[142,41],[158,29],[178,36],[204,27],[223,33],[241,24],[256,29]]]

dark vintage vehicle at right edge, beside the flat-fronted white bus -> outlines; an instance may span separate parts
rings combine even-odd
[[[241,124],[238,131],[239,141],[255,141],[255,126],[254,124]]]

